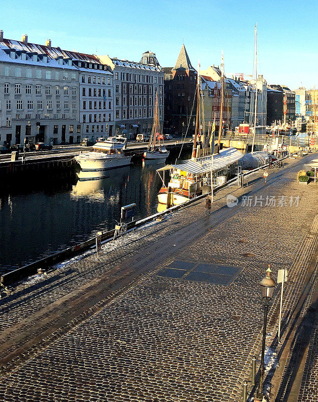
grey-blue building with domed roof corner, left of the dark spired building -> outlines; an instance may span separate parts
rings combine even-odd
[[[158,118],[164,121],[164,71],[155,54],[145,52],[139,63],[98,56],[113,71],[115,132],[127,138],[150,133],[155,94],[158,95]]]

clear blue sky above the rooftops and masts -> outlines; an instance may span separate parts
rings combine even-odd
[[[252,74],[254,25],[258,73],[269,83],[318,86],[318,35],[313,0],[11,0],[1,6],[5,38],[139,61],[145,50],[174,66],[184,41],[194,67],[219,64]],[[313,19],[310,18],[313,17]]]

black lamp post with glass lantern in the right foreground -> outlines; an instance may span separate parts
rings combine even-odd
[[[268,315],[268,307],[273,297],[274,287],[276,286],[275,281],[271,277],[270,265],[268,265],[268,269],[266,270],[266,276],[258,284],[261,287],[262,300],[264,306],[264,324],[263,324],[261,364],[259,367],[259,382],[255,402],[261,401],[264,395],[263,392],[264,372],[265,372],[264,355],[265,355],[265,343],[266,343],[267,315]]]

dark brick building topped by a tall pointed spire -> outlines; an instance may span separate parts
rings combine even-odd
[[[175,67],[164,67],[165,71],[165,123],[167,134],[194,133],[196,116],[197,71],[192,67],[183,44]]]

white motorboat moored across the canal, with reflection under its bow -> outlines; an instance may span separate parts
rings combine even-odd
[[[120,149],[109,149],[105,142],[98,142],[91,151],[81,153],[75,157],[75,160],[82,169],[78,174],[79,179],[91,180],[105,177],[109,169],[129,165],[131,156],[125,156]]]

